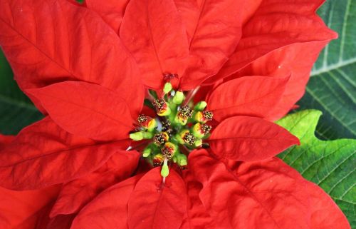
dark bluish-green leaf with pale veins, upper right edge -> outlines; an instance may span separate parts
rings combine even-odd
[[[356,1],[328,0],[318,14],[339,39],[320,54],[298,105],[323,111],[318,137],[356,138]]]

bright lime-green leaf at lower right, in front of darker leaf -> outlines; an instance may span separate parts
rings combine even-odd
[[[356,228],[356,140],[321,141],[315,137],[320,111],[293,113],[277,123],[300,139],[279,157],[304,178],[318,184],[339,205]]]

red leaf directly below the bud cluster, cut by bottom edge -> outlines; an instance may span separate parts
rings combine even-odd
[[[129,200],[130,229],[178,229],[182,224],[187,210],[184,181],[171,170],[162,185],[160,170],[152,169],[137,183]]]

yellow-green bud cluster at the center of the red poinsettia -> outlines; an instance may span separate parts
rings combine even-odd
[[[148,140],[142,150],[142,156],[152,166],[162,166],[161,175],[167,177],[169,165],[179,168],[187,166],[187,154],[195,148],[206,146],[213,118],[211,111],[206,111],[206,102],[194,104],[187,101],[182,91],[172,90],[172,85],[164,85],[164,95],[152,101],[148,106],[157,114],[150,117],[140,114],[137,118],[139,128],[130,133],[134,141]]]

